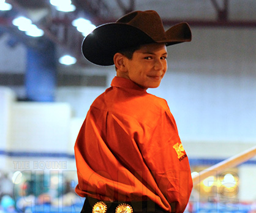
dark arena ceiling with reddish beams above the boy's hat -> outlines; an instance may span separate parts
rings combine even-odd
[[[23,42],[33,48],[40,48],[47,39],[58,47],[69,50],[77,56],[80,64],[81,40],[83,36],[72,26],[72,21],[85,17],[93,24],[115,21],[132,10],[156,10],[165,26],[187,21],[192,27],[201,28],[255,28],[255,0],[72,0],[73,12],[59,12],[49,0],[6,0],[12,10],[0,11],[0,35],[9,33],[9,45]],[[45,32],[43,37],[31,39],[13,27],[12,20],[18,15],[30,18]]]

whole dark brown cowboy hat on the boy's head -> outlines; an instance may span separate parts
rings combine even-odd
[[[115,23],[98,26],[82,43],[82,53],[97,65],[113,65],[113,56],[121,50],[147,43],[166,43],[167,46],[190,42],[189,24],[178,23],[167,31],[154,10],[134,11]]]

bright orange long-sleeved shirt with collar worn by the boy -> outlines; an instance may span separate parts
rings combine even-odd
[[[80,196],[152,200],[183,212],[192,190],[189,161],[167,102],[115,77],[92,103],[75,143]]]

